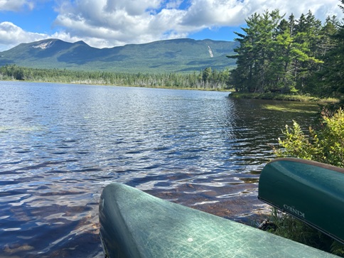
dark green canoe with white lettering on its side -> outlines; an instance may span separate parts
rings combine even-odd
[[[344,244],[344,169],[299,158],[264,166],[258,198]]]

